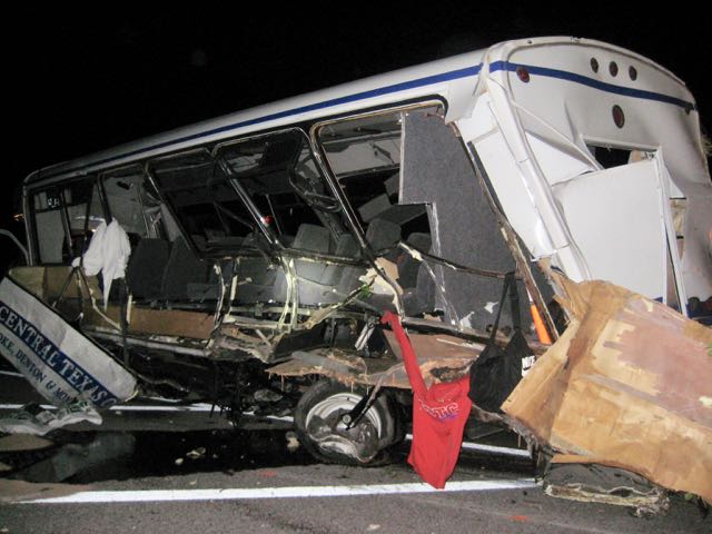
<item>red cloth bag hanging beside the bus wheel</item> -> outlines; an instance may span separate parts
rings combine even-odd
[[[435,384],[428,389],[398,316],[386,312],[382,323],[390,324],[413,387],[413,444],[408,463],[421,478],[442,490],[455,469],[472,408],[467,397],[469,377]]]

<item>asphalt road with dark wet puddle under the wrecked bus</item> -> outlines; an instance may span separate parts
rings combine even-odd
[[[0,415],[31,398],[23,380],[0,375]],[[235,432],[210,418],[207,407],[169,407],[139,399],[113,411],[100,432],[78,426],[52,435],[67,455],[52,468],[79,471],[59,485],[0,478],[0,533],[706,533],[712,527],[712,518],[680,496],[665,515],[647,518],[621,506],[548,497],[528,459],[507,449],[464,448],[446,488],[434,491],[404,462],[407,445],[400,462],[385,467],[324,465],[300,448],[287,448],[288,421]],[[58,458],[47,456],[46,466]],[[49,479],[52,468],[39,469],[37,459],[26,459],[20,471],[30,474],[26,478]]]

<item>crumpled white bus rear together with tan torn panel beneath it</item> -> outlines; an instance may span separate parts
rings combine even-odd
[[[494,47],[477,95],[456,123],[478,179],[567,313],[502,405],[554,452],[545,492],[612,502],[562,478],[596,464],[710,501],[712,184],[692,96],[577,39]]]

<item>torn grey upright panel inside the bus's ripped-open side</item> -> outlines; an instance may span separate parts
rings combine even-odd
[[[399,202],[428,205],[433,244],[427,251],[461,266],[498,273],[514,270],[516,263],[484,190],[473,180],[472,162],[461,139],[448,125],[427,112],[407,113],[404,128]],[[425,259],[423,265],[428,268]],[[458,324],[466,315],[475,328],[484,329],[492,323],[492,314],[484,305],[497,300],[501,280],[443,265],[429,268],[436,287],[434,308],[444,312],[446,323]],[[522,301],[525,297],[520,296]],[[503,322],[511,324],[508,309],[503,312]]]

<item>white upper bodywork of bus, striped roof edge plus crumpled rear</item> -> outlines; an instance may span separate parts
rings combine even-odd
[[[693,97],[652,61],[584,39],[506,42],[261,106],[40,170],[27,186],[428,98],[446,103],[445,122],[534,258],[665,301],[712,295],[712,186]],[[592,147],[630,152],[630,167],[604,169]]]

